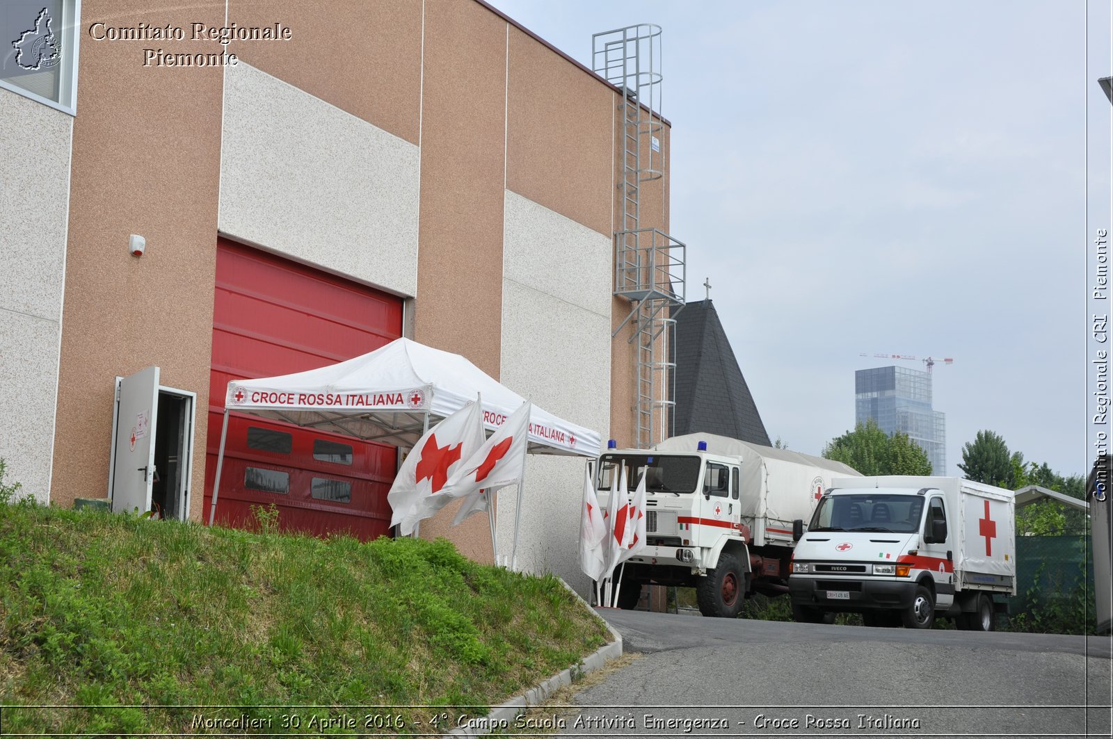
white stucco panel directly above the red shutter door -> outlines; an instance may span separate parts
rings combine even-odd
[[[417,292],[417,147],[246,62],[225,70],[221,234]]]

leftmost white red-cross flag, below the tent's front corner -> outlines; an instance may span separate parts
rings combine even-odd
[[[483,415],[479,403],[460,408],[430,428],[406,456],[391,485],[391,525],[403,536],[413,533],[420,504],[440,492],[453,472],[483,444]]]

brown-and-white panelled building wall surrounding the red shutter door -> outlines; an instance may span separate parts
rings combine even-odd
[[[82,43],[53,499],[106,493],[112,380],[151,364],[197,393],[193,479],[205,479],[206,411],[221,402],[207,387],[218,234],[406,298],[413,338],[604,439],[632,426],[633,347],[610,336],[629,311],[611,297],[613,89],[472,0],[224,11],[85,3],[85,29],[277,21],[293,39],[234,41],[239,65],[189,70],[142,67],[141,41]],[[656,187],[642,225],[663,227]],[[129,234],[146,256],[127,253]],[[582,469],[531,460],[531,569],[577,577]],[[200,519],[200,491],[191,500]],[[489,560],[483,516],[451,529],[453,513],[422,535]],[[502,513],[505,541],[512,505]]]

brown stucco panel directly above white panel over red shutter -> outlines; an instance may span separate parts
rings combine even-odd
[[[233,41],[228,48],[253,67],[417,144],[421,0],[230,0],[228,22],[289,27],[289,41]]]

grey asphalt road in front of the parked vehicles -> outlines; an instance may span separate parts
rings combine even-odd
[[[601,609],[629,667],[565,736],[1110,736],[1110,639]]]

